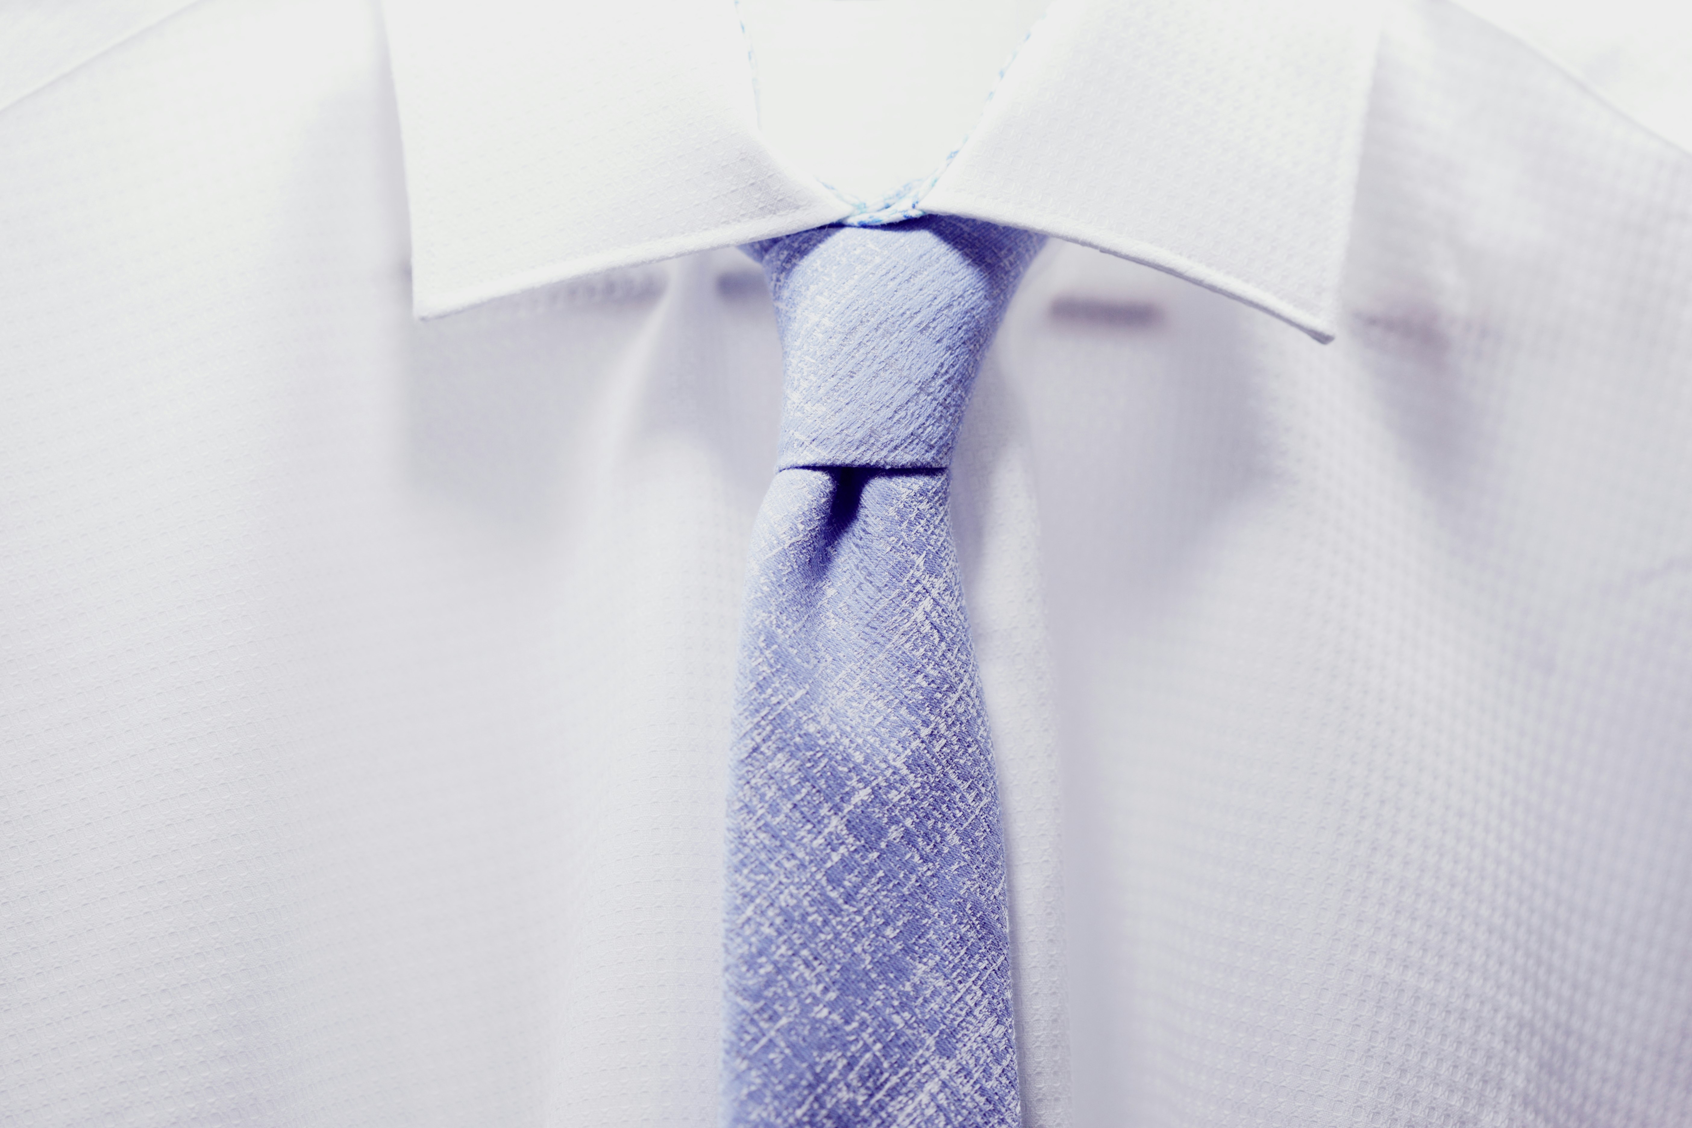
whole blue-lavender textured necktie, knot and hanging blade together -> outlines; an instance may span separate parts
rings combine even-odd
[[[748,247],[785,386],[736,690],[736,1128],[1020,1123],[998,797],[946,467],[1041,242],[929,216]]]

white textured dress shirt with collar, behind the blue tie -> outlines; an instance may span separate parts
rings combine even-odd
[[[3,17],[0,1120],[714,1123],[733,247],[926,210],[1056,237],[954,463],[1027,1123],[1692,1121],[1678,79],[1039,8]]]

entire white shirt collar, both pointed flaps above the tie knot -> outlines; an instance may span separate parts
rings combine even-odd
[[[420,316],[931,211],[1145,262],[1332,340],[1379,7],[1056,0],[876,215],[763,139],[733,0],[386,10]]]

